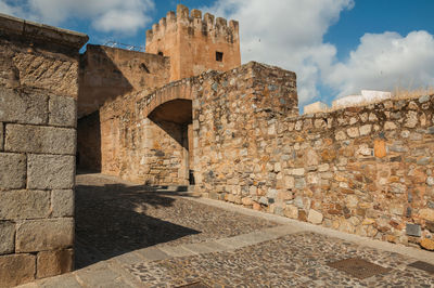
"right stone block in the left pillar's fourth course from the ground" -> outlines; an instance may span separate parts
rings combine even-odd
[[[74,187],[75,157],[28,155],[28,188],[71,189]]]

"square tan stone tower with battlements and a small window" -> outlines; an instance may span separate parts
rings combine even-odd
[[[239,24],[178,5],[146,31],[146,52],[170,57],[170,81],[241,65]]]

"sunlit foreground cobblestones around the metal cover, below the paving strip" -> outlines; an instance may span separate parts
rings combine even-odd
[[[390,272],[358,279],[327,265],[361,258]],[[209,287],[433,287],[434,275],[397,253],[316,233],[296,233],[233,251],[143,262],[128,270],[151,287],[202,282]]]

